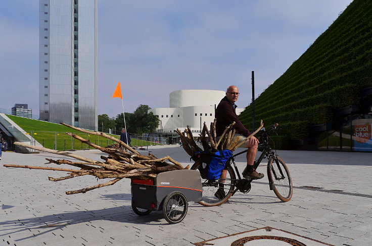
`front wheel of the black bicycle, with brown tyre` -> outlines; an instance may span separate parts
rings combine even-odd
[[[275,195],[283,202],[292,198],[293,184],[289,169],[280,157],[269,159],[267,164],[267,176],[272,183]]]

